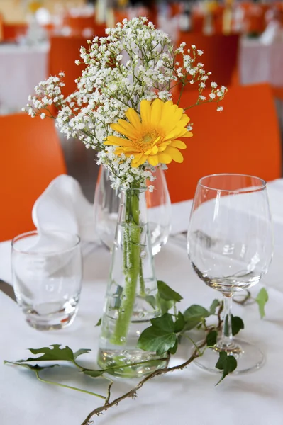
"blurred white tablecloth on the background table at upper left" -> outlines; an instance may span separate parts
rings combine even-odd
[[[0,113],[21,111],[48,73],[48,44],[0,45]]]

